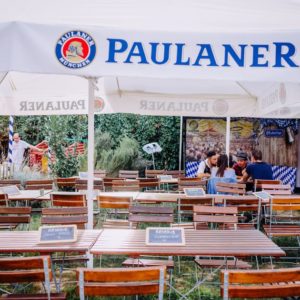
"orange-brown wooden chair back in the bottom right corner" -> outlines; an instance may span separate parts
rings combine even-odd
[[[221,296],[278,298],[300,295],[300,268],[273,270],[222,270]]]

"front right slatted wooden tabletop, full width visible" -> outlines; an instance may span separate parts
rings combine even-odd
[[[186,230],[185,246],[148,246],[145,230],[103,229],[92,254],[178,256],[284,256],[285,252],[258,230]]]

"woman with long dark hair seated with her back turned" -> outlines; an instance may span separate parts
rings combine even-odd
[[[208,194],[216,194],[217,182],[236,182],[235,171],[232,168],[228,167],[228,156],[226,154],[221,154],[217,161],[217,167],[212,168],[211,177],[207,183],[207,192]]]

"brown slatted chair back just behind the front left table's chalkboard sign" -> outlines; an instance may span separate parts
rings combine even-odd
[[[77,225],[84,229],[88,222],[87,207],[43,208],[42,225]]]

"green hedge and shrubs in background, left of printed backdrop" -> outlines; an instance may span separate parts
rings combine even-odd
[[[2,117],[5,131],[8,130],[8,117]],[[15,117],[15,131],[23,140],[30,144],[37,144],[47,140],[52,151],[56,153],[56,164],[52,171],[56,176],[71,176],[78,168],[87,169],[87,156],[69,158],[64,155],[64,148],[74,142],[87,143],[87,116],[26,116]],[[121,140],[127,137],[133,142]],[[179,117],[153,117],[133,114],[110,114],[95,116],[95,167],[116,173],[118,166],[142,170],[149,166],[151,155],[142,151],[142,146],[151,142],[158,142],[162,147],[161,153],[155,154],[157,169],[178,169],[180,137]],[[123,143],[123,142],[122,142]],[[137,143],[137,144],[136,144]],[[116,152],[115,152],[116,151]],[[129,155],[126,159],[124,155]],[[106,168],[104,166],[107,166]]]

